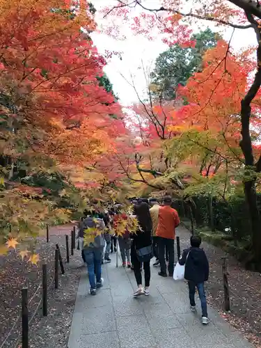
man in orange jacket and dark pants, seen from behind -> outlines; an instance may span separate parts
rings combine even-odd
[[[164,197],[164,205],[163,207],[159,207],[159,222],[156,232],[161,268],[159,276],[163,277],[167,276],[165,253],[166,257],[168,257],[168,275],[171,277],[173,276],[175,228],[180,224],[177,210],[171,207],[171,203],[171,197]]]

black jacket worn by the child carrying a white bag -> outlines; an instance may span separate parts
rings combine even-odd
[[[187,255],[189,256],[187,258]],[[203,283],[208,280],[209,263],[202,248],[187,248],[182,253],[179,263],[185,264],[184,278],[193,283]]]

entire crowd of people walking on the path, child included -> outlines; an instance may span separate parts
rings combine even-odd
[[[135,232],[129,232],[126,228],[125,232],[118,237],[108,232],[108,229],[117,226],[120,219],[128,219],[127,212],[123,212],[120,205],[106,213],[86,212],[86,216],[79,223],[79,239],[81,240],[82,257],[88,267],[90,294],[96,294],[97,288],[103,285],[101,264],[103,259],[106,262],[111,261],[109,251],[117,251],[117,238],[122,266],[134,270],[137,283],[135,297],[150,294],[150,260],[154,256],[156,262],[153,265],[160,266],[159,276],[173,277],[175,229],[179,226],[180,219],[177,211],[171,207],[171,197],[164,197],[161,205],[157,199],[149,201],[145,198],[133,200],[132,204],[133,211],[130,212],[130,215],[135,216],[139,223]],[[94,226],[100,228],[102,234],[97,235],[94,242],[84,246],[84,230]],[[202,322],[208,324],[204,282],[208,278],[209,266],[205,252],[200,248],[200,243],[200,237],[191,237],[191,247],[184,250],[179,263],[185,265],[184,278],[189,283],[191,310],[195,310],[197,287],[203,310]],[[142,271],[144,271],[144,286]]]

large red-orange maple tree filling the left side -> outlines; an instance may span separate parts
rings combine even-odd
[[[77,193],[70,187],[79,177],[88,183],[88,164],[113,148],[111,115],[121,111],[99,81],[106,61],[93,30],[86,1],[1,1],[2,245],[9,238],[6,246],[15,247],[67,213],[55,209],[51,190],[24,179],[60,173]]]

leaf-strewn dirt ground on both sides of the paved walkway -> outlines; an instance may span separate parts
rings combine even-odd
[[[70,255],[65,262],[65,234],[70,235],[72,226],[57,226],[50,229],[50,241],[37,241],[40,254],[38,267],[10,252],[0,257],[0,348],[18,348],[21,339],[20,298],[25,285],[29,288],[30,347],[65,348],[70,333],[72,312],[83,264],[79,251]],[[181,248],[187,247],[190,234],[180,228]],[[65,264],[65,275],[59,276],[58,290],[54,289],[54,250],[58,243]],[[230,287],[231,311],[223,310],[222,256],[221,249],[203,242],[209,258],[210,275],[207,282],[209,303],[248,340],[261,348],[261,275],[246,271],[236,260],[228,256],[228,280]],[[41,313],[41,264],[48,268],[48,316]],[[24,268],[24,271],[23,271]]]

